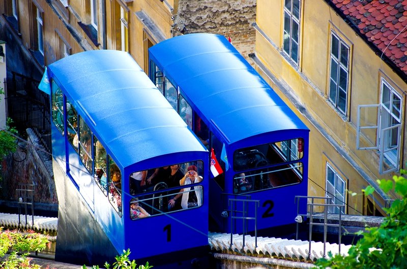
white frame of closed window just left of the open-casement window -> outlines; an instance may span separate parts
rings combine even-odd
[[[337,46],[337,51],[335,55],[333,52],[334,50],[334,39],[337,40],[338,46]],[[346,66],[342,61],[342,48],[345,49],[347,52],[346,55]],[[329,46],[329,85],[328,85],[328,100],[337,108],[343,115],[346,116],[347,114],[347,99],[348,99],[348,88],[349,88],[349,81],[350,81],[350,61],[351,61],[351,46],[346,44],[346,42],[340,38],[334,31],[331,31],[331,37],[330,37],[330,46]],[[333,66],[336,66],[336,72],[335,74],[332,74],[334,72]],[[342,72],[343,71],[343,72]],[[340,85],[341,84],[341,75],[345,74],[346,75],[346,85]],[[335,75],[335,80],[332,77]],[[344,86],[344,89],[343,89]],[[333,89],[333,87],[335,87]],[[333,92],[333,90],[335,90]],[[341,93],[344,93],[344,107],[341,106],[340,102],[340,95]],[[333,94],[335,96],[333,96]]]

